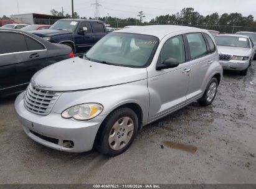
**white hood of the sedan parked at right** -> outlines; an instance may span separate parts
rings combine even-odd
[[[219,54],[230,54],[240,57],[248,57],[250,55],[250,48],[242,47],[228,47],[228,46],[217,46]]]

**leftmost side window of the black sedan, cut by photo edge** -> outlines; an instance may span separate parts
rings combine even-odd
[[[24,35],[12,32],[0,32],[0,54],[27,51]]]

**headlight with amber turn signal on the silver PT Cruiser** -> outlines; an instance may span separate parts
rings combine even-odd
[[[85,121],[95,118],[103,111],[102,104],[97,103],[87,103],[78,104],[77,106],[70,107],[66,109],[62,114],[62,118],[66,119],[76,119],[79,121]]]

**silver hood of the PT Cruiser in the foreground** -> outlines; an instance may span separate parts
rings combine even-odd
[[[75,91],[144,80],[146,68],[128,68],[70,58],[38,71],[32,78],[39,88]]]

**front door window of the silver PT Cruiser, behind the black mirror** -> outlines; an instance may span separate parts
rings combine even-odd
[[[168,58],[175,58],[179,63],[186,60],[183,37],[181,35],[168,39],[159,55],[159,62],[163,63]]]

